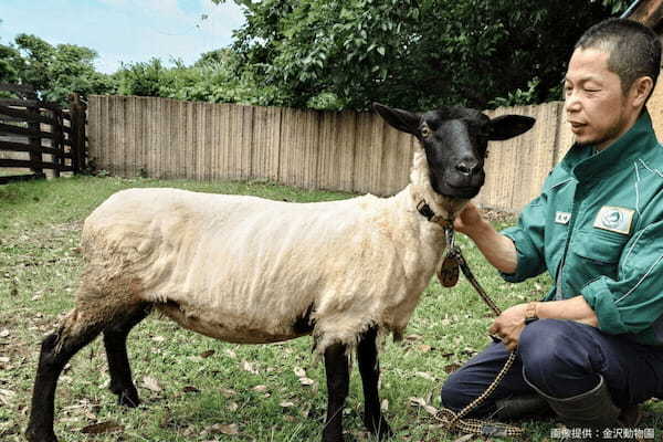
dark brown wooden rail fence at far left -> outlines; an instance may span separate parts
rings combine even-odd
[[[0,169],[29,169],[0,176],[0,183],[77,173],[85,168],[86,107],[72,94],[70,109],[38,99],[28,85],[0,84],[14,98],[0,97]],[[9,154],[9,155],[8,155]],[[4,170],[6,171],[6,170]]]

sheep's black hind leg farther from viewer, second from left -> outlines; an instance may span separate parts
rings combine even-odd
[[[141,305],[130,313],[116,318],[104,330],[104,345],[110,372],[110,391],[117,394],[118,403],[126,407],[138,407],[138,390],[131,380],[131,368],[127,356],[127,336],[131,328],[141,322],[150,312],[150,305]]]

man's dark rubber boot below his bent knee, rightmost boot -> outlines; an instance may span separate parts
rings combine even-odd
[[[579,439],[568,439],[568,441],[600,441],[603,440],[604,429],[620,427],[618,418],[621,410],[612,402],[608,387],[600,376],[598,386],[571,398],[552,398],[540,391],[539,394],[546,399],[569,430],[579,429],[582,432]]]

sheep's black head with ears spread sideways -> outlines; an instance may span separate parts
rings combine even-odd
[[[478,110],[459,106],[423,114],[378,103],[373,108],[391,126],[419,139],[433,190],[460,200],[474,198],[484,183],[488,141],[513,138],[529,130],[535,123],[534,118],[520,115],[491,119]]]

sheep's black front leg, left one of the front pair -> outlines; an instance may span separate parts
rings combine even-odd
[[[323,442],[343,442],[343,407],[348,396],[350,373],[346,346],[335,344],[325,350],[327,373],[327,420]]]

